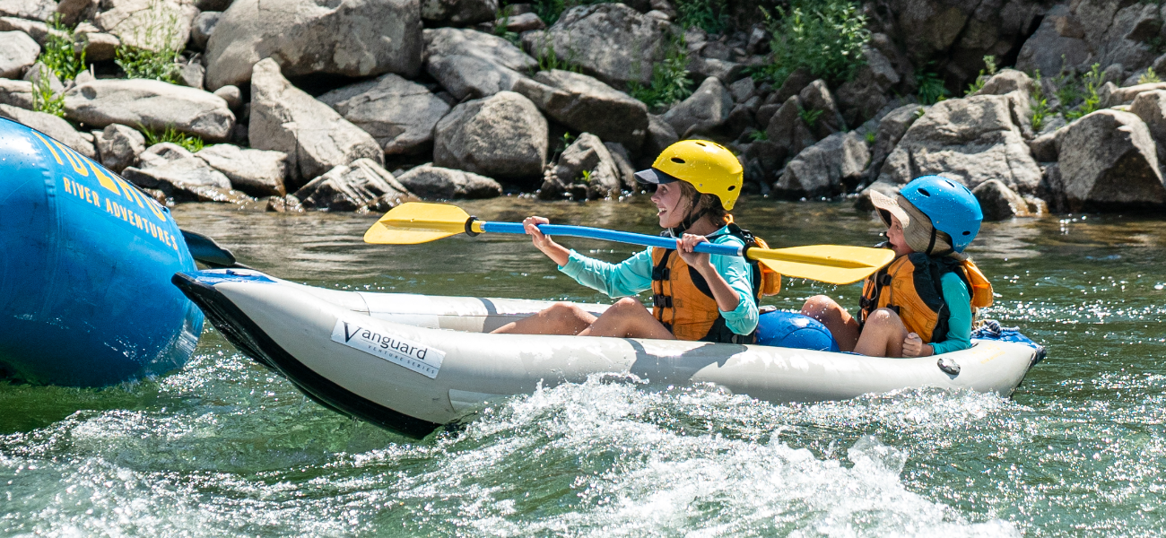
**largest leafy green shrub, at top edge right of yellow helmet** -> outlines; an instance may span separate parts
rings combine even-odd
[[[754,77],[774,84],[805,68],[814,77],[831,83],[849,80],[863,65],[863,45],[870,41],[866,16],[850,0],[793,0],[789,10],[778,6],[771,15],[761,9],[773,34],[773,63],[754,71]]]

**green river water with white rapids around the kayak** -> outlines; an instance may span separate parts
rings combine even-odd
[[[489,220],[654,233],[644,197],[463,204]],[[871,245],[849,203],[744,200],[771,246]],[[182,205],[272,275],[346,290],[596,302],[518,236],[360,242],[375,215]],[[564,243],[607,260],[635,247]],[[333,413],[209,327],[195,359],[106,389],[0,384],[3,536],[1163,536],[1166,221],[986,224],[989,317],[1048,347],[1009,399],[907,390],[773,405],[589,382],[414,441]],[[785,283],[796,307],[858,285]]]

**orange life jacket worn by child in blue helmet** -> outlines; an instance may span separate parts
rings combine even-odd
[[[968,286],[972,307],[992,304],[992,284],[970,260],[961,262],[949,256],[912,253],[866,278],[858,323],[865,323],[876,309],[885,307],[898,313],[907,331],[919,334],[925,342],[947,340],[951,311],[943,300],[940,279],[948,272],[958,275]]]

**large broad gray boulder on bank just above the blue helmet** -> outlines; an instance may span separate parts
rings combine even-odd
[[[1028,116],[1027,95],[975,95],[933,105],[911,125],[887,156],[878,183],[892,186],[932,174],[957,179],[969,189],[997,178],[1009,189],[1032,193],[1040,184],[1021,128],[1013,118]]]

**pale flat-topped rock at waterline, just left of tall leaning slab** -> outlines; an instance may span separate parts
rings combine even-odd
[[[196,157],[210,164],[227,179],[231,187],[257,198],[283,196],[287,190],[287,154],[262,149],[243,149],[231,144],[215,144],[203,148]]]

